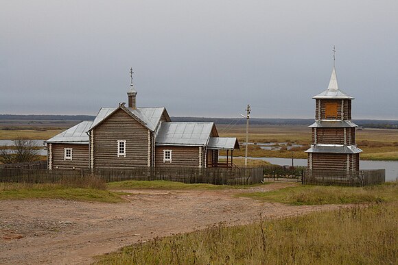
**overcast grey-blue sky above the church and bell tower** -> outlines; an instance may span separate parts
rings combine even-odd
[[[353,118],[398,119],[398,1],[0,0],[0,114],[312,118],[336,45]]]

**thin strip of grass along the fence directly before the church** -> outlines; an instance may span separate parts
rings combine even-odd
[[[108,188],[111,190],[223,190],[223,189],[238,189],[250,188],[264,184],[246,185],[246,186],[227,186],[227,185],[212,185],[212,184],[185,184],[176,181],[164,180],[130,180],[117,181],[108,183]]]

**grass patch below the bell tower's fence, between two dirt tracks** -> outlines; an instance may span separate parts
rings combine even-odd
[[[322,205],[398,201],[398,182],[367,187],[297,186],[237,196],[292,205]]]

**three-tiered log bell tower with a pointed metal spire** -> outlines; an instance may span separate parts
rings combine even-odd
[[[355,144],[358,125],[351,121],[351,101],[354,98],[338,88],[334,65],[327,90],[313,99],[315,123],[309,126],[312,128],[312,144],[305,151],[309,170],[340,171],[347,176],[358,172],[362,150]]]

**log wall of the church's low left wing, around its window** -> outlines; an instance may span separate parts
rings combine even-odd
[[[65,148],[72,149],[72,160],[64,160]],[[51,144],[52,169],[89,168],[89,144]]]

